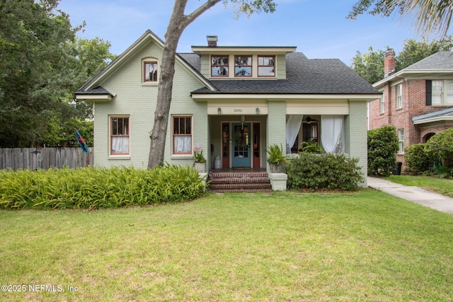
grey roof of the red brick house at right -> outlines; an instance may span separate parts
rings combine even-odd
[[[374,83],[373,86],[374,88],[381,88],[385,83],[398,79],[439,79],[447,75],[453,76],[453,52],[436,52],[431,54],[430,57],[421,59],[417,63]]]

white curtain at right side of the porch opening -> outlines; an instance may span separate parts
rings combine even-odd
[[[343,115],[321,115],[321,144],[327,153],[344,153],[343,121]]]

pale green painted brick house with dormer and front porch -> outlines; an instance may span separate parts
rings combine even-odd
[[[176,56],[165,161],[206,172],[269,169],[266,148],[307,139],[360,158],[367,171],[367,102],[379,91],[339,59],[307,59],[293,46],[193,46]],[[147,30],[76,92],[93,103],[96,165],[146,168],[164,42]],[[366,186],[366,181],[364,184]]]

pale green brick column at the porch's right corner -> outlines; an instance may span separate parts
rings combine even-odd
[[[367,102],[350,100],[349,115],[345,117],[345,153],[350,158],[359,158],[365,182],[360,187],[367,187],[368,147],[367,147]]]

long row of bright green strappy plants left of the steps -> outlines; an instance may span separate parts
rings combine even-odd
[[[191,167],[0,171],[0,209],[98,209],[183,202],[205,183]]]

